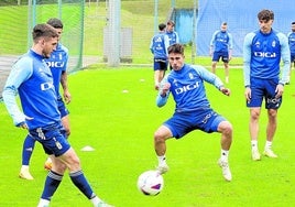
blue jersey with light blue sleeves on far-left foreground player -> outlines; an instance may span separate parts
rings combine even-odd
[[[18,92],[23,112],[15,100]],[[32,130],[61,120],[50,67],[44,57],[32,50],[12,66],[2,95],[15,126],[26,122]]]

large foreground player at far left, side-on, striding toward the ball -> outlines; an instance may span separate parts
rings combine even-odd
[[[81,171],[78,155],[65,138],[52,73],[44,61],[56,50],[57,31],[50,24],[36,24],[32,36],[33,45],[12,66],[2,97],[14,126],[28,130],[53,161],[37,207],[50,206],[66,170],[73,184],[94,206],[109,206],[91,189]],[[22,110],[17,103],[18,94]]]

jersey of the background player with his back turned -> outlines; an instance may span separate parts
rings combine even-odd
[[[154,35],[151,40],[150,50],[154,54],[154,58],[167,58],[167,47],[170,46],[168,36],[160,32],[159,34]]]

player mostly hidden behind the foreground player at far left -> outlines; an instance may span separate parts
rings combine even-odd
[[[64,129],[66,131],[66,135],[68,137],[70,134],[69,130],[69,119],[68,119],[68,110],[65,107],[65,102],[70,102],[70,94],[68,90],[68,84],[67,84],[67,63],[68,63],[68,50],[59,42],[63,33],[63,22],[56,18],[50,19],[47,21],[47,24],[52,25],[56,29],[58,33],[58,44],[56,46],[56,50],[51,54],[51,57],[45,59],[46,64],[50,66],[52,75],[53,75],[53,84],[55,87],[55,91],[57,95],[57,101],[58,101],[58,110],[61,112],[62,117],[62,123],[64,126]],[[64,99],[59,94],[59,84],[62,85],[63,91],[64,91]],[[35,141],[30,134],[26,135],[23,143],[23,150],[22,150],[22,167],[20,171],[19,176],[24,179],[33,179],[33,176],[31,175],[29,171],[30,160],[35,146]],[[51,170],[52,167],[52,161],[51,157],[47,159],[47,161],[44,164],[44,167],[46,170]]]

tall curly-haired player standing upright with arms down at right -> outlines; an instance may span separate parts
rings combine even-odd
[[[272,29],[274,13],[262,10],[258,13],[260,30],[248,33],[243,43],[243,76],[247,107],[250,109],[250,138],[253,161],[260,161],[258,148],[259,118],[265,99],[267,110],[266,142],[263,154],[277,157],[272,142],[277,127],[277,109],[282,105],[284,85],[289,72],[289,47],[285,34]],[[282,72],[280,62],[283,61]],[[280,73],[281,78],[280,78]]]

